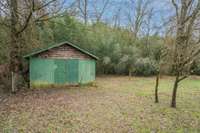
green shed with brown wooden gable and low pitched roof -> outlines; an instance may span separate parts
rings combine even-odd
[[[30,85],[79,84],[95,80],[98,57],[70,42],[32,52],[29,59]]]

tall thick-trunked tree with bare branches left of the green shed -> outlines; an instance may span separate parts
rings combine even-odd
[[[0,11],[8,11],[5,14],[5,17],[8,19],[7,21],[2,22],[2,24],[10,29],[9,69],[12,75],[11,81],[13,92],[17,89],[18,77],[22,71],[23,32],[28,28],[30,22],[38,22],[44,18],[46,20],[53,17],[54,15],[44,13],[44,10],[54,8],[52,4],[55,4],[56,2],[56,0],[1,1]]]

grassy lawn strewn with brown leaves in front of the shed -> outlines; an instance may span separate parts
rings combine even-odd
[[[105,76],[95,85],[37,89],[0,97],[0,132],[200,132],[200,77],[184,80],[177,109],[169,107],[172,77],[163,77],[154,104],[155,78]]]

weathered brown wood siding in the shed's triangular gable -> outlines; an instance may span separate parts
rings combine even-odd
[[[69,45],[62,45],[60,47],[50,49],[38,54],[37,57],[50,59],[93,59]]]

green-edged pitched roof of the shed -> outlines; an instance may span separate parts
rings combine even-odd
[[[60,47],[60,46],[62,46],[62,45],[69,45],[69,46],[71,46],[71,47],[77,49],[78,51],[80,51],[80,52],[82,52],[82,53],[84,53],[84,54],[86,54],[86,55],[88,55],[88,56],[94,58],[95,60],[98,60],[98,59],[99,59],[97,56],[91,54],[90,52],[88,52],[88,51],[86,51],[86,50],[84,50],[84,49],[82,49],[82,48],[80,48],[80,47],[78,47],[78,46],[76,46],[76,45],[74,45],[74,44],[68,42],[68,41],[65,41],[65,42],[62,42],[62,43],[59,43],[59,44],[56,44],[56,45],[51,45],[51,46],[49,46],[49,47],[47,47],[47,48],[43,48],[43,49],[34,51],[34,52],[32,52],[32,53],[29,53],[29,54],[25,55],[24,58],[29,58],[29,57],[31,57],[31,56],[40,54],[40,53],[45,52],[45,51],[47,51],[47,50],[50,50],[50,49],[52,49],[52,48]]]

